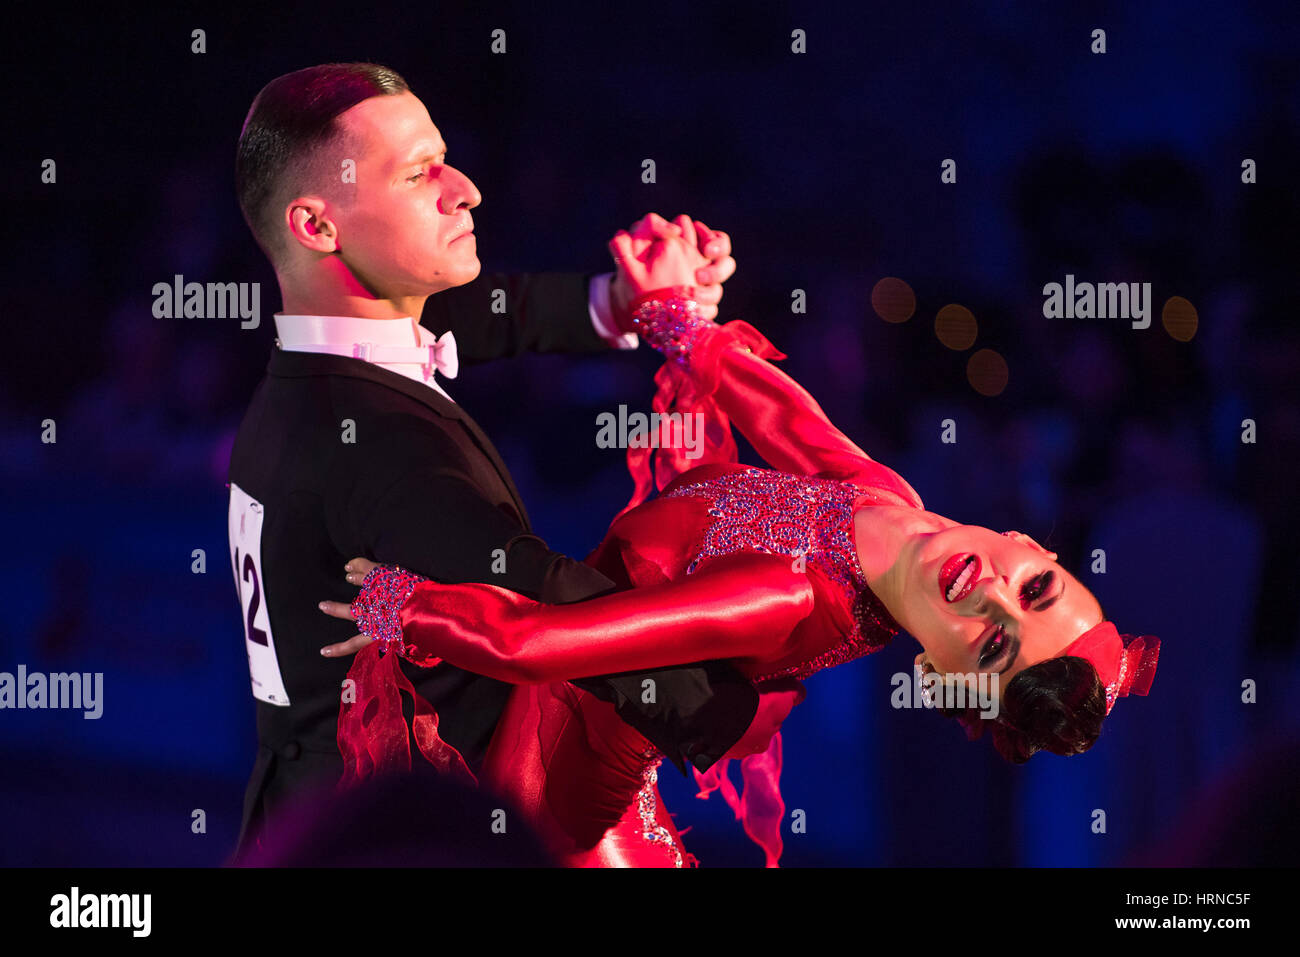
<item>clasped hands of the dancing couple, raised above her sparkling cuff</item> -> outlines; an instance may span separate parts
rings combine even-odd
[[[659,239],[680,243],[656,246]],[[736,272],[731,255],[731,237],[708,229],[682,213],[668,222],[658,213],[647,213],[629,230],[619,230],[610,241],[618,272],[610,286],[610,304],[623,332],[634,332],[628,306],[642,293],[667,286],[694,286],[696,302],[705,319],[718,317],[723,282]],[[650,283],[650,285],[646,285]]]

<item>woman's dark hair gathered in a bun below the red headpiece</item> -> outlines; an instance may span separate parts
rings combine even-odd
[[[1106,689],[1087,658],[1062,655],[1022,670],[1002,689],[997,718],[978,707],[937,709],[956,718],[971,741],[985,728],[997,753],[1023,765],[1037,752],[1083,754],[1101,735]]]

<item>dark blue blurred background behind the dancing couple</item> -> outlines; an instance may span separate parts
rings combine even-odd
[[[0,711],[0,863],[211,865],[233,844],[255,735],[225,467],[278,308],[233,156],[266,81],[330,60],[384,62],[421,96],[482,191],[488,268],[607,268],[608,235],[651,209],[728,230],[740,268],[723,319],[786,351],[928,508],[1034,534],[1121,631],[1164,640],[1152,696],[1121,702],[1092,752],[1023,767],[933,713],[889,707],[916,650],[906,636],[812,677],[785,727],[784,794],[807,833],[788,836],[784,863],[1217,865],[1295,846],[1277,830],[1300,724],[1294,4],[6,18],[0,670],[103,671],[105,714]],[[489,52],[497,27],[506,56]],[[39,181],[46,157],[57,186]],[[948,157],[956,185],[939,178]],[[1240,182],[1245,157],[1256,185]],[[261,328],[155,320],[152,285],[176,273],[261,282]],[[1150,282],[1152,328],[1044,319],[1041,289],[1066,273]],[[889,276],[916,294],[902,325],[871,309]],[[1188,343],[1161,328],[1173,295],[1199,311]],[[1001,395],[966,384],[972,350],[935,338],[948,303],[975,313],[975,348],[1006,358]],[[645,348],[529,356],[448,389],[540,533],[582,557],[630,493],[595,416],[649,408],[655,367]],[[939,442],[945,417],[956,446]],[[1104,576],[1088,571],[1095,547]],[[1245,679],[1260,703],[1242,703]],[[662,785],[703,863],[762,862],[716,796],[694,800],[671,768]]]

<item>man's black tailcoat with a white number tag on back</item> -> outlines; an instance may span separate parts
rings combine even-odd
[[[451,329],[463,364],[525,351],[607,351],[592,328],[586,285],[578,274],[489,274],[430,296],[421,322],[439,334]],[[493,289],[506,290],[504,315],[490,309]],[[443,583],[484,581],[550,603],[614,588],[533,534],[508,469],[460,406],[360,359],[277,348],[235,438],[230,482],[260,505],[259,560],[240,555],[235,573],[246,618],[254,592],[264,603],[256,620],[269,625],[290,702],[256,701],[260,746],[242,850],[268,815],[342,772],[335,735],[351,659],[322,658],[320,648],[356,629],[321,614],[317,602],[350,597],[347,559],[400,564]],[[504,573],[493,571],[497,549],[506,553]],[[446,663],[402,667],[438,711],[442,737],[477,771],[510,685]],[[575,684],[611,701],[682,772],[685,762],[712,765],[757,711],[751,683],[719,662],[650,674],[658,693],[649,705],[644,674]]]

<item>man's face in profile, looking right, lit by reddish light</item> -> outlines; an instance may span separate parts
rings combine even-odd
[[[358,152],[356,185],[354,200],[329,216],[352,274],[384,299],[430,295],[478,276],[469,211],[482,198],[447,165],[447,146],[420,99],[372,96],[338,122]]]

